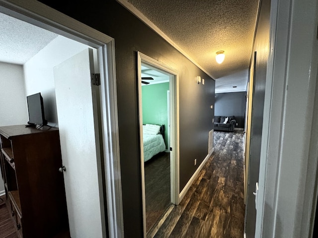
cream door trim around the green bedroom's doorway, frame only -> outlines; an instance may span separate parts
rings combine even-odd
[[[139,99],[139,121],[140,121],[140,155],[141,155],[141,179],[142,179],[142,198],[143,198],[143,220],[144,237],[146,238],[146,196],[145,196],[145,169],[144,169],[144,150],[143,150],[143,105],[142,105],[142,86],[141,86],[141,64],[145,62],[174,76],[170,77],[169,91],[170,98],[170,199],[171,203],[178,205],[179,197],[179,72],[170,68],[157,60],[154,60],[141,52],[137,52],[138,68],[138,99]]]

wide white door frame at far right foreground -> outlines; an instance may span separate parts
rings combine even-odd
[[[317,0],[271,1],[256,238],[313,235],[318,195],[317,21]]]

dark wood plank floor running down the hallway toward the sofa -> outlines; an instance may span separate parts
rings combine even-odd
[[[242,238],[243,133],[214,132],[214,152],[155,238]]]

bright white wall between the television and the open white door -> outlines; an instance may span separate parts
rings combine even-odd
[[[51,126],[58,126],[53,67],[87,47],[66,37],[58,36],[24,64],[26,95],[41,92],[45,119]]]

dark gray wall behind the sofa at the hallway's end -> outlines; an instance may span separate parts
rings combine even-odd
[[[235,116],[235,127],[244,128],[246,92],[216,93],[215,116]]]

